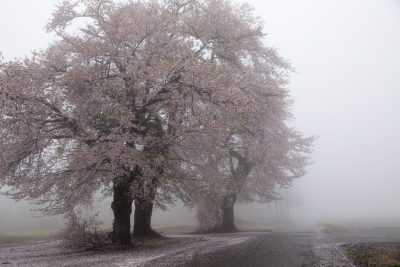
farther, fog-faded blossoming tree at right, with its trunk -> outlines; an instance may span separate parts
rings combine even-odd
[[[254,69],[253,73],[258,71]],[[187,202],[197,209],[201,230],[235,231],[237,200],[274,200],[279,188],[290,186],[305,173],[313,138],[304,138],[286,125],[290,118],[287,92],[282,81],[266,76],[268,79],[273,91],[262,86],[258,87],[263,88],[260,91],[250,87],[258,101],[251,110],[237,114],[224,140],[215,144],[225,153],[205,152],[203,158],[193,159],[197,165],[193,164],[192,172],[199,176],[208,173],[212,181],[184,186]],[[204,187],[206,190],[196,189]]]

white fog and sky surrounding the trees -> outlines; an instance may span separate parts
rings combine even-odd
[[[0,51],[5,59],[46,47],[52,36],[43,27],[57,2],[0,1]],[[291,123],[317,137],[313,164],[290,190],[289,195],[296,196],[290,218],[399,222],[400,2],[247,2],[265,21],[265,42],[296,70],[288,85],[294,99]],[[194,223],[189,209],[178,206],[168,213],[158,211],[155,223]],[[0,227],[18,228],[18,218],[37,214],[30,208],[1,197]],[[258,204],[237,211],[254,221],[272,214],[270,206]],[[27,227],[52,220],[32,219]]]

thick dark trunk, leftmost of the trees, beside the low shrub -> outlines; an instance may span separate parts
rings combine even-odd
[[[114,197],[111,208],[114,213],[112,242],[119,245],[130,245],[132,197],[129,195],[128,183],[114,181]]]

